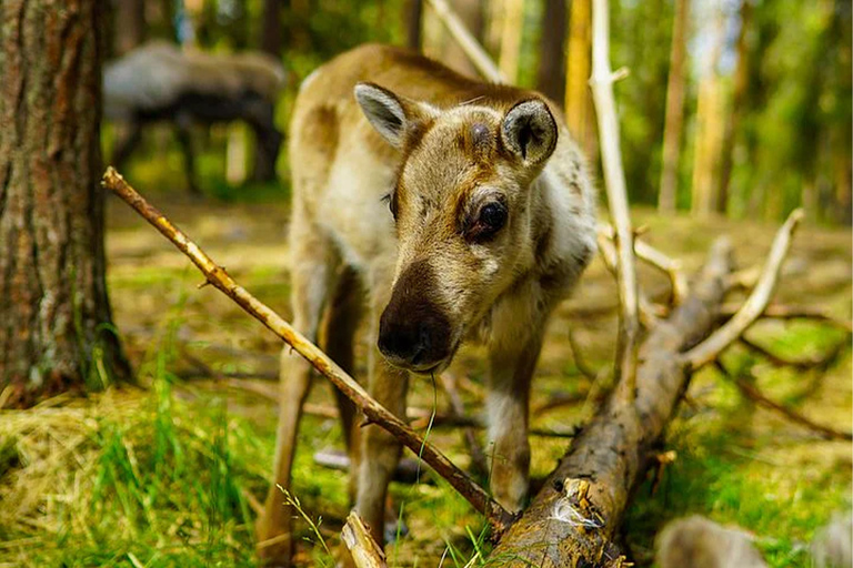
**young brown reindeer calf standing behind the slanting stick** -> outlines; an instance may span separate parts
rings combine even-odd
[[[302,83],[290,163],[294,326],[324,337],[351,372],[365,305],[375,345],[368,387],[399,416],[410,373],[441,373],[463,339],[483,341],[491,489],[520,510],[545,324],[595,248],[595,194],[556,105],[409,51],[364,45]],[[287,347],[281,363],[274,478],[288,488],[311,381],[309,364]],[[401,446],[375,425],[353,425],[348,402],[340,407],[355,509],[381,542]],[[273,486],[258,523],[259,551],[272,564],[290,555],[293,513],[283,500]]]

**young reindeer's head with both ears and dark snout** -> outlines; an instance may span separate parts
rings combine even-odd
[[[355,98],[403,156],[389,195],[399,244],[379,348],[394,365],[441,371],[524,268],[530,185],[554,151],[556,123],[538,98],[436,109],[370,83]]]

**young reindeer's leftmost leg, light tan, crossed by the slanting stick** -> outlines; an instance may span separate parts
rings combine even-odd
[[[307,220],[301,210],[295,203],[290,232],[293,327],[315,342],[322,311],[330,295],[335,255],[329,240]],[[267,495],[264,515],[257,525],[258,552],[268,566],[290,564],[291,518],[294,511],[284,504],[284,495],[279,487],[290,490],[299,420],[311,386],[311,365],[289,346],[284,346],[281,353],[280,385],[274,483]]]

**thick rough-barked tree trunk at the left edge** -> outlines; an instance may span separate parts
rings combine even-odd
[[[0,389],[128,378],[104,281],[103,4],[23,0],[0,27]]]

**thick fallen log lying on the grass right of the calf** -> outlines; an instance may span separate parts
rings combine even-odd
[[[632,490],[654,455],[690,376],[679,354],[714,326],[732,270],[717,242],[692,294],[643,343],[635,397],[621,388],[581,430],[492,558],[505,566],[625,566],[613,545]]]

